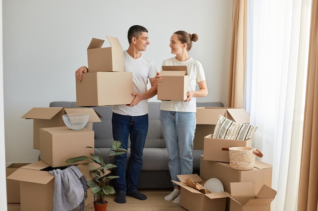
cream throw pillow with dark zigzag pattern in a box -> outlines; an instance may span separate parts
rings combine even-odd
[[[246,141],[254,138],[257,128],[257,126],[237,123],[219,115],[214,128],[213,138]]]

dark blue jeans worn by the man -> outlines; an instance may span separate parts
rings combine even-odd
[[[113,168],[116,192],[132,193],[137,191],[138,178],[142,167],[142,154],[148,132],[148,114],[143,116],[126,116],[113,113],[112,117],[114,141],[121,141],[121,147],[128,149],[131,140],[131,154],[126,166],[127,153],[114,159],[117,167]]]

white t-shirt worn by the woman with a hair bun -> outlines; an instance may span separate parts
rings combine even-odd
[[[189,58],[186,61],[180,62],[175,57],[172,57],[170,59],[164,60],[162,66],[186,66],[187,74],[189,77],[189,91],[196,91],[197,83],[205,80],[205,74],[202,64],[193,58]],[[160,109],[165,111],[196,112],[197,98],[193,97],[188,102],[184,102],[181,100],[163,100],[161,102]]]

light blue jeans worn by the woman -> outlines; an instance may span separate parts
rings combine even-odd
[[[179,181],[177,175],[193,174],[196,113],[161,110],[160,119],[169,154],[170,176],[172,180]]]

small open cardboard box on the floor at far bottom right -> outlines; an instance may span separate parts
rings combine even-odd
[[[266,185],[255,191],[253,182],[231,183],[230,211],[268,211],[276,193]]]

